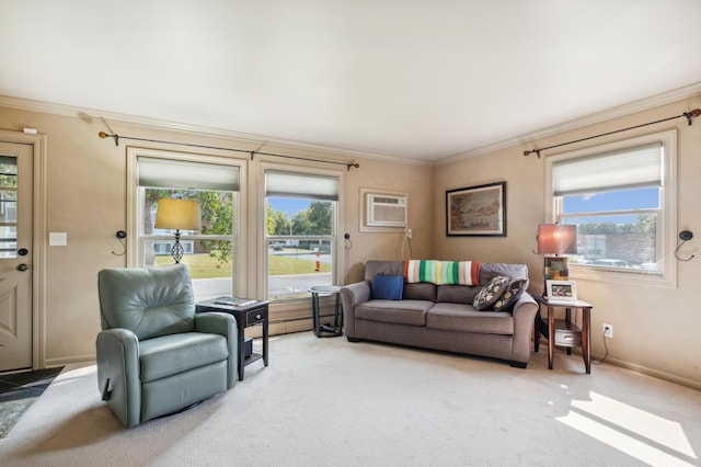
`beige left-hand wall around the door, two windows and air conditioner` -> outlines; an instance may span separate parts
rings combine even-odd
[[[39,109],[37,110],[36,106]],[[26,109],[31,109],[27,111]],[[22,103],[0,106],[0,129],[22,132],[24,127],[36,128],[47,135],[47,212],[46,231],[67,232],[67,247],[46,247],[45,294],[45,355],[46,365],[91,360],[94,357],[94,340],[100,330],[96,275],[104,267],[127,265],[126,255],[117,257],[122,246],[115,238],[117,230],[127,230],[127,148],[165,149],[235,158],[245,166],[242,198],[246,227],[241,234],[246,241],[240,253],[242,273],[248,277],[243,288],[249,296],[258,296],[262,286],[256,283],[257,271],[262,271],[263,255],[258,253],[264,205],[258,183],[264,164],[284,167],[314,167],[338,170],[343,176],[342,228],[350,234],[353,248],[340,248],[343,282],[357,280],[361,265],[369,258],[393,259],[401,232],[360,232],[359,195],[361,187],[406,193],[410,200],[410,219],[414,223],[413,251],[428,255],[433,247],[433,228],[428,221],[432,203],[430,168],[422,164],[402,164],[391,161],[355,158],[358,169],[346,171],[343,166],[311,163],[291,159],[256,156],[253,161],[246,153],[221,150],[188,149],[146,141],[122,139],[115,146],[112,138],[100,139],[99,132],[116,133],[148,139],[165,139],[188,144],[219,146],[253,150],[260,141],[212,137],[193,132],[159,129],[139,124],[114,121],[103,122],[70,109],[51,106],[46,111],[41,104]],[[352,156],[280,146],[266,146],[267,152],[317,158],[346,162]],[[130,246],[130,238],[127,243]],[[47,238],[43,240],[47,244]],[[349,244],[349,243],[348,243]],[[39,261],[35,261],[36,264]],[[311,328],[310,304],[278,307],[278,317],[291,322],[272,327],[275,332],[297,331]],[[296,321],[295,321],[296,320]]]

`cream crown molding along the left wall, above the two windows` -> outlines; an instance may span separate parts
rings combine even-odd
[[[311,153],[318,156],[333,155],[336,157],[348,158],[363,158],[363,159],[376,159],[390,162],[401,162],[417,166],[432,166],[433,162],[425,160],[412,160],[402,159],[392,156],[378,155],[372,152],[354,151],[350,149],[335,148],[331,146],[313,145],[302,141],[296,141],[284,138],[273,138],[264,135],[254,135],[243,132],[234,132],[230,129],[214,128],[207,126],[184,124],[177,122],[170,122],[158,118],[142,117],[138,115],[122,114],[116,112],[106,112],[95,109],[78,107],[67,104],[57,104],[46,101],[36,101],[31,99],[14,98],[10,95],[0,95],[0,106],[8,109],[16,109],[21,111],[47,113],[53,115],[61,115],[68,117],[78,117],[81,119],[103,119],[108,126],[108,123],[123,123],[128,125],[139,125],[157,129],[175,130],[192,133],[203,136],[218,137],[231,139],[234,144],[244,145],[243,150],[263,150],[264,147],[278,147],[280,149],[288,149],[294,151],[302,151],[303,153]],[[268,149],[269,150],[269,149]]]

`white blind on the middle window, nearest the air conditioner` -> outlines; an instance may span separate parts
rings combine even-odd
[[[265,196],[338,201],[338,178],[267,170]]]

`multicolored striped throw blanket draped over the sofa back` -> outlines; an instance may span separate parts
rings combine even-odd
[[[476,285],[480,283],[480,263],[476,261],[404,261],[404,282],[430,282],[436,285]]]

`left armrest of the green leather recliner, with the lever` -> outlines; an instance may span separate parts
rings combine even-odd
[[[101,331],[95,340],[97,387],[127,428],[141,421],[141,378],[139,377],[139,340],[128,329]]]

